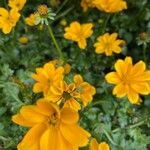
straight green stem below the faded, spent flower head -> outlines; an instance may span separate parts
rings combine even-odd
[[[59,55],[59,58],[60,58],[62,61],[64,61],[64,57],[63,57],[62,51],[61,51],[61,49],[60,49],[60,47],[59,47],[59,45],[58,45],[58,43],[57,43],[57,41],[56,41],[56,39],[55,39],[53,30],[52,30],[52,28],[50,27],[50,25],[48,26],[48,31],[49,31],[49,34],[50,34],[50,36],[51,36],[51,38],[52,38],[52,41],[53,41],[53,43],[54,43],[54,45],[55,45],[55,47],[56,47],[57,53],[58,53],[58,55]]]

